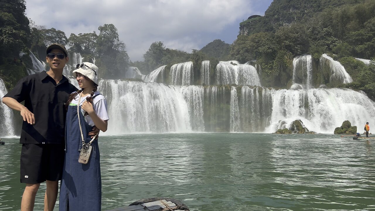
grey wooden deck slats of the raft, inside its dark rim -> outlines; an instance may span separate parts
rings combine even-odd
[[[175,203],[166,200],[157,200],[154,202],[141,203],[137,205],[125,206],[122,208],[110,209],[107,211],[186,211],[185,209],[179,209]]]

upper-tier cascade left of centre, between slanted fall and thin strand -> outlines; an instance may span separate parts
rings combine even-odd
[[[171,84],[190,85],[193,82],[193,62],[174,64],[169,72]]]

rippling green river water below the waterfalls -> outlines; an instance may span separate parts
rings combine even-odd
[[[0,210],[19,210],[21,145],[17,138],[3,140]],[[104,211],[156,196],[185,202],[191,211],[375,210],[375,141],[326,134],[132,134],[102,136],[99,147]],[[43,209],[44,191],[42,184],[34,210]]]

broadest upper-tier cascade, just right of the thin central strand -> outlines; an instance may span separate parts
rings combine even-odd
[[[236,64],[233,65],[232,63]],[[216,84],[237,84],[246,86],[261,86],[257,69],[254,66],[238,64],[236,61],[219,62],[215,71]]]

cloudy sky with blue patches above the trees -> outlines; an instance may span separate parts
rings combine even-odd
[[[232,44],[239,23],[264,15],[272,0],[26,0],[26,16],[36,25],[71,33],[99,34],[114,24],[133,62],[142,61],[151,43],[191,52],[214,39]]]

